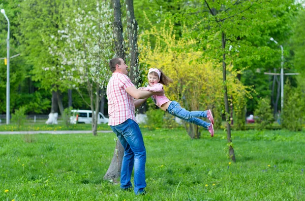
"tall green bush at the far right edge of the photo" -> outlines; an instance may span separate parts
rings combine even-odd
[[[293,88],[289,82],[286,82],[284,106],[281,114],[282,128],[290,131],[302,130],[302,124],[305,120],[305,91],[303,90],[301,90],[301,85]]]

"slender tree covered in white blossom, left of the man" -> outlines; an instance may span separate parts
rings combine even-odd
[[[93,111],[92,131],[97,135],[97,120],[102,94],[109,80],[108,61],[113,58],[112,10],[109,4],[96,4],[95,11],[80,8],[73,11],[74,17],[68,17],[64,30],[58,30],[59,38],[65,46],[49,47],[60,61],[59,80],[76,89],[83,101]],[[81,89],[85,88],[90,102],[84,99]]]

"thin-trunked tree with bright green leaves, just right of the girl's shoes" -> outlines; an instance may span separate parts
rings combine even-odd
[[[231,139],[230,108],[227,88],[227,67],[233,64],[237,70],[242,69],[249,61],[259,60],[268,52],[268,47],[257,47],[259,39],[270,38],[262,36],[261,30],[266,25],[277,23],[275,12],[288,8],[293,1],[272,0],[257,1],[200,1],[194,0],[178,17],[187,20],[192,27],[192,35],[200,38],[198,48],[204,50],[203,56],[210,60],[216,59],[222,63],[223,92],[227,127],[229,156],[235,162],[235,154]],[[267,41],[267,39],[266,39]],[[233,96],[233,99],[236,99]]]

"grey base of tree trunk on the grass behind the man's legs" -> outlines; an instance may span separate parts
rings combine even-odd
[[[117,140],[110,166],[104,176],[105,180],[112,179],[114,182],[116,182],[117,178],[120,176],[123,156],[124,156],[124,147],[121,145],[119,140]]]

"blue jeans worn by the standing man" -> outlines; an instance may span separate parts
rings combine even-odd
[[[125,149],[120,175],[120,187],[123,189],[132,187],[130,179],[134,167],[134,191],[136,194],[140,194],[146,187],[146,149],[139,125],[129,118],[122,124],[110,127]]]

